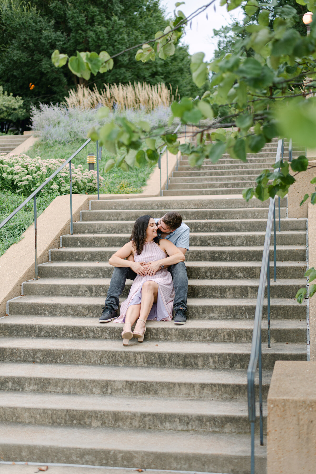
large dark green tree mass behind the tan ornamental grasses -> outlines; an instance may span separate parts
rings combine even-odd
[[[102,87],[103,82],[163,81],[170,82],[174,91],[179,85],[181,95],[195,97],[198,88],[190,75],[185,46],[177,46],[177,55],[166,62],[135,63],[134,53],[126,53],[115,59],[113,70],[90,80],[79,78],[68,68],[56,69],[51,62],[54,49],[68,55],[76,50],[115,54],[154,35],[167,23],[158,0],[2,0],[0,84],[22,96],[27,110],[38,102],[63,101],[78,82],[96,82]]]

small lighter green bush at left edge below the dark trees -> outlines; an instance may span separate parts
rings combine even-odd
[[[12,92],[3,92],[0,86],[0,131],[8,133],[10,125],[26,117],[22,97],[13,97]]]

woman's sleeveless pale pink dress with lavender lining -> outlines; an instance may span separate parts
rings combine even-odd
[[[161,260],[167,256],[168,255],[163,252],[158,244],[155,242],[146,242],[143,247],[143,252],[140,255],[135,255],[134,260],[135,262],[156,262],[157,260]],[[172,276],[167,268],[162,268],[152,276],[136,276],[131,289],[129,290],[127,299],[121,304],[120,315],[113,322],[125,322],[128,306],[139,304],[141,302],[142,286],[143,283],[148,282],[148,280],[158,283],[159,290],[157,303],[153,303],[147,319],[156,319],[157,321],[172,320],[172,307],[174,300]]]

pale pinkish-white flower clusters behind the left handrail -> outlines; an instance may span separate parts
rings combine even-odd
[[[40,156],[30,158],[27,155],[0,154],[0,190],[29,196],[46,178],[56,171],[63,159],[42,160]],[[104,180],[99,176],[100,183]],[[77,168],[72,164],[72,192],[74,194],[94,193],[97,191],[97,172]],[[68,194],[70,191],[69,167],[65,166],[47,183],[44,190],[54,195]]]

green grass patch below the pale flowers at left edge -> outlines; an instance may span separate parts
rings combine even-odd
[[[37,217],[54,200],[55,195],[46,194],[43,191],[37,196]],[[11,214],[24,200],[25,196],[19,196],[10,191],[0,191],[0,222]],[[0,256],[8,250],[9,246],[21,240],[26,229],[34,222],[33,200],[29,201],[9,222],[0,229]]]

